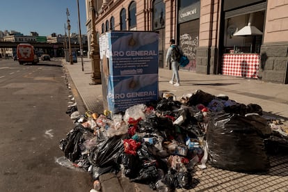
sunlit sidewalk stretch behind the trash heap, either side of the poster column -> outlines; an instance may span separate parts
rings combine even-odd
[[[63,65],[69,72],[87,109],[102,113],[102,85],[89,85],[92,82],[92,66],[89,58],[83,58],[83,71],[80,58],[78,58],[78,63],[74,63],[74,65],[63,60]],[[286,120],[288,118],[288,84],[224,75],[197,74],[182,70],[179,71],[179,76],[181,86],[173,86],[168,83],[171,71],[159,68],[159,93],[169,92],[177,95],[177,97],[194,93],[195,90],[203,90],[212,95],[224,94],[237,102],[259,104],[263,111],[273,113]]]

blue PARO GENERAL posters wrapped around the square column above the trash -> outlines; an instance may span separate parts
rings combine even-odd
[[[106,99],[112,113],[158,99],[159,34],[111,31],[106,35],[109,58]]]

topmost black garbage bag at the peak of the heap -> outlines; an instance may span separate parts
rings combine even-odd
[[[211,95],[210,93],[205,93],[202,90],[196,90],[195,93],[191,95],[189,101],[187,102],[188,106],[195,106],[197,104],[204,104],[208,106],[208,104],[213,100],[216,99],[215,95]]]

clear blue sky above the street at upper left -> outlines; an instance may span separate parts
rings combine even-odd
[[[0,31],[14,30],[40,36],[65,34],[66,9],[70,12],[70,33],[79,33],[77,0],[8,0],[0,3]],[[79,0],[81,34],[86,34],[85,1]]]

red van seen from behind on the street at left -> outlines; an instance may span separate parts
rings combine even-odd
[[[20,43],[17,45],[17,58],[20,65],[24,63],[39,63],[39,58],[34,47],[29,43]]]

